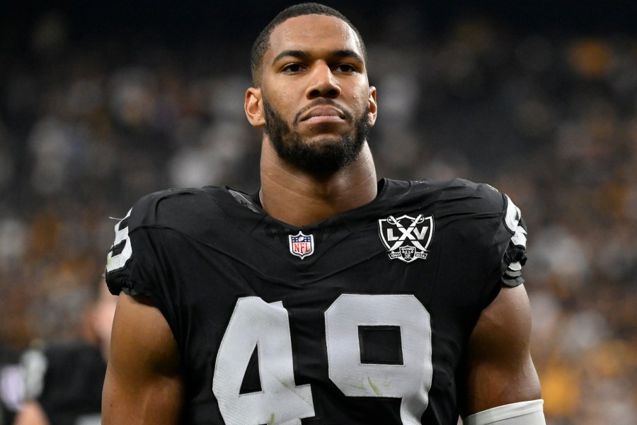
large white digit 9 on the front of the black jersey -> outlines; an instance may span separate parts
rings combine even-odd
[[[400,327],[403,364],[361,363],[359,326]],[[349,397],[401,399],[404,425],[420,425],[433,368],[429,313],[413,295],[340,295],[325,312],[330,379]]]

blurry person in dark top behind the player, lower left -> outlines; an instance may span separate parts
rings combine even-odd
[[[103,279],[86,309],[84,341],[52,343],[23,354],[26,400],[14,425],[101,424],[101,395],[117,297]]]

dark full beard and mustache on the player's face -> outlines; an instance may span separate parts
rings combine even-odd
[[[343,111],[343,108],[339,108],[331,99],[321,99],[297,113],[294,123],[298,122],[299,116],[304,111],[316,105],[331,105],[345,113],[346,118],[352,117],[352,113]],[[288,164],[312,174],[331,174],[352,164],[358,158],[367,140],[369,106],[365,108],[360,118],[355,120],[353,135],[342,135],[337,139],[326,137],[314,142],[307,142],[297,130],[287,125],[282,116],[270,106],[268,101],[265,101],[265,98],[263,98],[263,108],[265,134],[270,138],[278,156]]]

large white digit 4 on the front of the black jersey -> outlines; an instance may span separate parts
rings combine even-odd
[[[255,347],[262,390],[240,394]],[[281,302],[268,304],[259,297],[236,302],[217,353],[212,392],[227,425],[300,425],[314,416],[309,385],[294,385],[292,340]]]

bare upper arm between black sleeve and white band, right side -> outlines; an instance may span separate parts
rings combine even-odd
[[[463,417],[541,397],[530,336],[531,311],[524,285],[502,288],[469,338]]]

